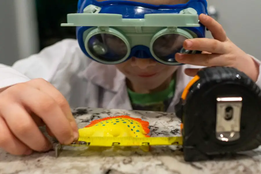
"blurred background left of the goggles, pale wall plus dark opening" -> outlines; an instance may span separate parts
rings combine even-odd
[[[75,13],[77,0],[1,0],[0,63],[12,65],[64,38],[75,28],[61,27]]]

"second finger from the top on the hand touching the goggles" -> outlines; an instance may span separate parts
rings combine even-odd
[[[209,38],[187,39],[184,41],[183,47],[186,50],[199,50],[217,54],[228,52],[223,42]]]

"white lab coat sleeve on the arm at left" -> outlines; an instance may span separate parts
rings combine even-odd
[[[0,74],[0,88],[25,82],[30,79],[42,78],[54,85],[63,94],[68,94],[71,88],[71,77],[84,63],[77,40],[64,39],[41,50],[38,54],[18,60],[12,67],[3,66]]]

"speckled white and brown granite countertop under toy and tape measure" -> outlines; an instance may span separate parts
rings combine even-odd
[[[118,109],[77,108],[73,110],[79,128],[94,119],[130,115],[150,122],[151,136],[180,135],[180,121],[175,114],[127,111]],[[154,152],[85,152],[55,151],[18,157],[0,150],[0,174],[257,174],[261,173],[261,149],[241,153],[232,160],[184,161],[177,147],[159,148]]]

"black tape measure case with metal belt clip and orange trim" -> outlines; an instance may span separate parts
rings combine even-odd
[[[185,161],[257,148],[261,143],[261,91],[235,68],[200,70],[175,107],[182,119]]]

